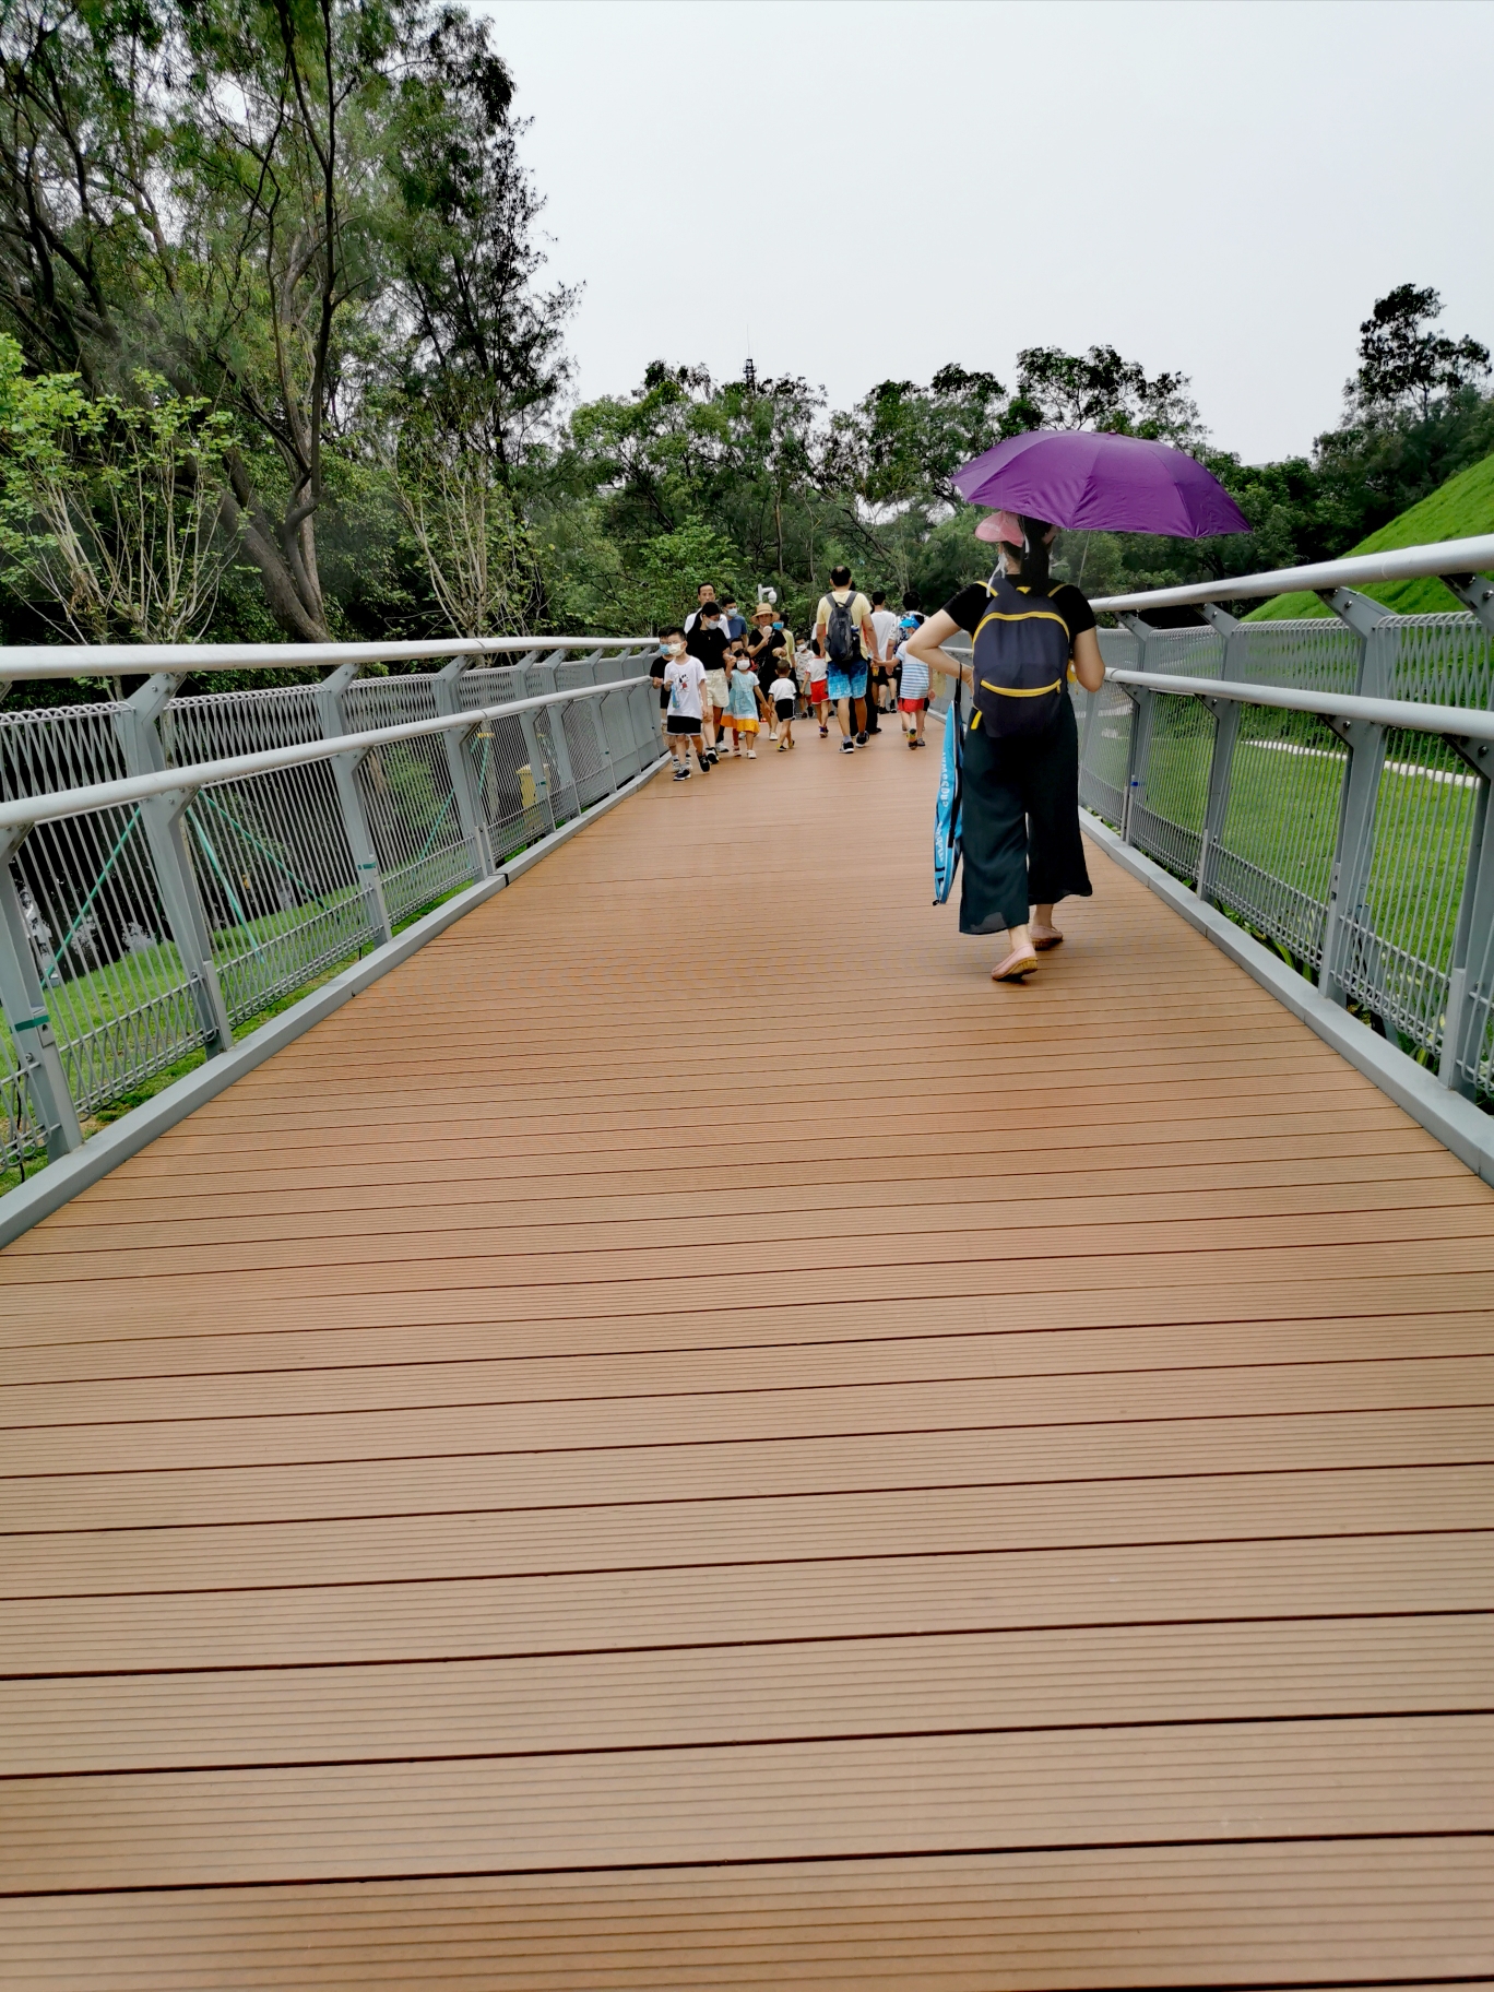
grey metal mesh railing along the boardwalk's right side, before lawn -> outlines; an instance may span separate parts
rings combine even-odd
[[[1494,1096],[1494,538],[1231,578],[1096,610],[1080,801],[1275,944],[1444,1086]],[[1392,616],[1351,582],[1436,574],[1468,604]],[[1333,610],[1237,622],[1311,588]],[[1199,604],[1149,627],[1139,610]]]

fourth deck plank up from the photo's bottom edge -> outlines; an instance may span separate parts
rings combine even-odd
[[[0,1673],[502,1657],[1494,1610],[1488,1532],[38,1598]]]

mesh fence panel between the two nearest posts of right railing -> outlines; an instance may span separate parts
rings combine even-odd
[[[1365,900],[1339,976],[1416,1050],[1438,1052],[1478,777],[1426,733],[1388,733]]]

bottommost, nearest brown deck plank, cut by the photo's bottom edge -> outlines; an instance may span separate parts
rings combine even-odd
[[[1488,1992],[1488,1843],[1086,1849],[878,1863],[0,1900],[16,1992]],[[6,1976],[10,1974],[10,1976]]]

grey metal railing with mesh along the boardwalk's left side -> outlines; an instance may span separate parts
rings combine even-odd
[[[657,765],[651,639],[0,649],[0,1171],[235,1038]],[[361,677],[378,661],[430,673]],[[181,695],[187,671],[317,683]],[[145,681],[124,695],[122,675]]]

